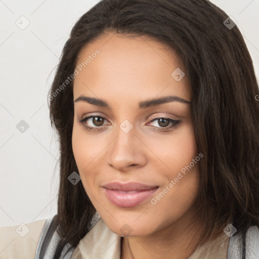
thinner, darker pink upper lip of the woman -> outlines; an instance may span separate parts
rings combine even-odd
[[[103,186],[109,190],[116,190],[116,191],[143,191],[143,190],[152,190],[158,188],[155,185],[146,185],[137,182],[130,182],[130,183],[119,183],[119,182],[111,182]]]

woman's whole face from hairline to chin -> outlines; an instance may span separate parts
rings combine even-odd
[[[186,226],[202,155],[179,56],[148,37],[105,34],[82,49],[76,70],[73,153],[106,225],[120,236]]]

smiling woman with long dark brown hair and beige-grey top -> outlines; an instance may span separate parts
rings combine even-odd
[[[50,91],[58,213],[30,225],[35,258],[259,256],[256,96],[243,37],[210,2],[99,2]]]

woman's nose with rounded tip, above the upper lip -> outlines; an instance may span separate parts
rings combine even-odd
[[[134,127],[128,133],[118,127],[117,137],[109,148],[109,165],[121,172],[142,167],[147,163],[145,151],[145,145],[139,140]]]

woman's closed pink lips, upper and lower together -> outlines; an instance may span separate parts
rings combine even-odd
[[[103,186],[106,197],[118,207],[134,207],[157,191],[158,186],[112,182]]]

